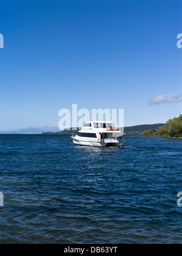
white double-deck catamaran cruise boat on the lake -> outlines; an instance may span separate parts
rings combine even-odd
[[[95,146],[95,147],[123,147],[126,142],[123,138],[123,132],[116,128],[114,122],[93,121],[86,122],[76,135],[71,139],[74,144]]]

